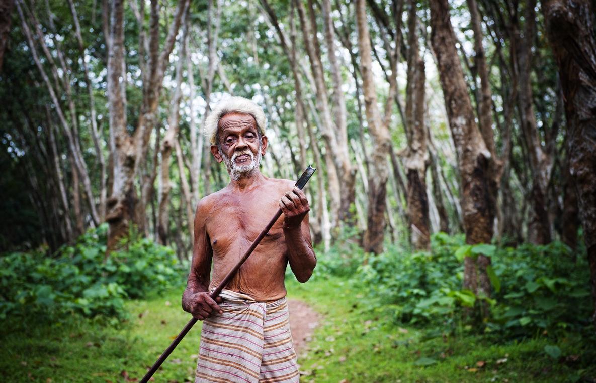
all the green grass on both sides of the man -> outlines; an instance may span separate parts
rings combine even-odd
[[[385,310],[375,308],[375,302],[342,279],[288,281],[288,291],[324,318],[308,352],[299,356],[303,382],[566,382],[596,376],[596,368],[590,366],[596,357],[593,339],[582,341],[579,335],[560,339],[562,355],[553,360],[544,352],[545,346],[554,344],[546,337],[493,344],[487,337],[429,338],[428,331],[399,327],[387,319]],[[34,319],[5,322],[0,330],[0,380],[140,379],[189,319],[180,309],[181,293],[170,291],[127,303],[130,321],[117,327],[78,316],[54,325]],[[199,328],[164,363],[157,382],[193,381]]]

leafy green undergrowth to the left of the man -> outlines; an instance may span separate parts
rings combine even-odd
[[[182,283],[172,249],[132,239],[105,258],[107,225],[64,246],[53,258],[42,252],[0,257],[0,319],[54,318],[64,313],[122,316],[126,298],[142,298]]]

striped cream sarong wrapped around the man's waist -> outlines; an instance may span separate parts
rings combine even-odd
[[[195,383],[299,382],[285,297],[256,302],[224,290],[222,315],[203,321]]]

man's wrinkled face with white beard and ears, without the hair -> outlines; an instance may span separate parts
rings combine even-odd
[[[219,120],[218,145],[211,152],[218,162],[224,161],[234,180],[248,177],[259,169],[265,154],[267,137],[259,140],[257,124],[250,114],[229,113]]]

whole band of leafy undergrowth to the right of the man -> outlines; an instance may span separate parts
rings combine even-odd
[[[484,323],[467,328],[503,339],[575,331],[589,324],[585,256],[573,260],[569,247],[558,242],[517,248],[463,242],[462,236],[439,233],[432,237],[431,252],[392,247],[370,256],[355,247],[336,246],[319,259],[317,272],[352,276],[402,324],[455,330],[461,328],[465,307],[480,302],[490,313]],[[463,260],[479,254],[492,258],[486,270],[493,288],[490,298],[462,289]]]

